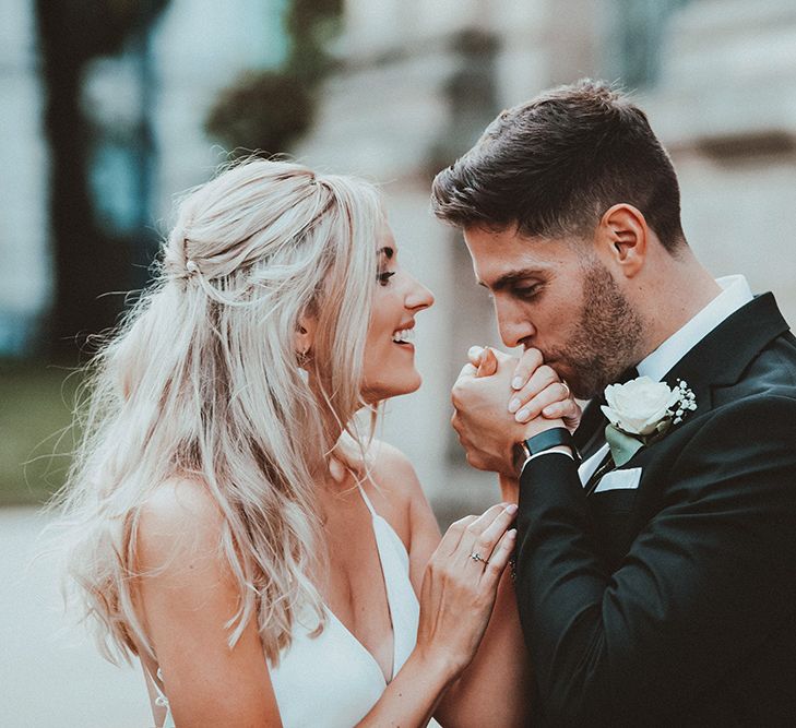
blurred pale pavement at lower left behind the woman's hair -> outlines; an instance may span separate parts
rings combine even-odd
[[[143,675],[104,660],[70,626],[52,559],[37,559],[49,516],[0,509],[0,724],[9,728],[153,726]]]

